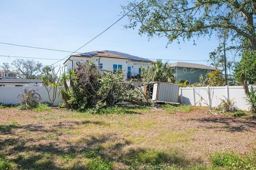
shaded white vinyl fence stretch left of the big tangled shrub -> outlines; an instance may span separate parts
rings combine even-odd
[[[30,90],[32,88],[38,89],[37,93],[40,94],[42,100],[40,102],[50,102],[46,87],[35,87],[35,86],[0,86],[0,103],[3,104],[16,104],[21,102],[20,98],[17,98],[18,94],[24,94],[24,88]],[[50,90],[51,87],[47,87]],[[52,99],[53,87],[50,90],[50,98]],[[58,106],[63,103],[61,95],[59,95],[59,87],[57,87],[56,100],[54,106]]]

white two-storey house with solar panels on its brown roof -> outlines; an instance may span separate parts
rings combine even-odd
[[[76,68],[76,63],[85,61],[94,62],[96,66],[113,72],[119,68],[125,71],[124,78],[138,79],[141,78],[142,68],[145,68],[151,62],[155,62],[118,51],[92,51],[71,55],[64,63],[66,71]]]

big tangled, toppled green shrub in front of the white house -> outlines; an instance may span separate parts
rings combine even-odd
[[[61,88],[64,107],[85,111],[87,108],[114,106],[118,102],[131,102],[138,105],[149,105],[143,91],[124,81],[124,71],[115,72],[102,70],[94,63],[86,61],[77,63],[78,68],[70,76],[63,75]],[[66,82],[70,81],[70,88]]]

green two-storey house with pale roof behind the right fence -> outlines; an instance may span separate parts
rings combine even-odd
[[[205,76],[207,73],[215,71],[216,68],[206,66],[203,64],[193,64],[193,63],[183,63],[177,62],[170,64],[171,67],[174,67],[176,83],[178,80],[185,82],[188,80],[189,84],[194,84],[199,81],[199,76],[202,74]]]

